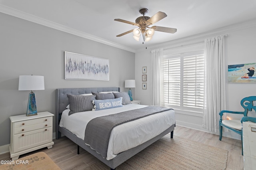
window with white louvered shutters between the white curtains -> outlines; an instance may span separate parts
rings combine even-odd
[[[164,103],[200,111],[204,105],[204,51],[164,57]]]

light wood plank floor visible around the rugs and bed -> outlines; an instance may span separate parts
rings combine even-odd
[[[240,140],[222,137],[222,141],[220,141],[218,135],[180,126],[175,127],[174,135],[228,150],[227,170],[244,169]],[[82,148],[80,148],[80,154],[78,155],[77,145],[65,136],[58,140],[55,139],[51,149],[43,148],[24,154],[20,158],[35,152],[45,152],[62,170],[83,170],[97,160]],[[1,154],[0,160],[11,160],[10,153]]]

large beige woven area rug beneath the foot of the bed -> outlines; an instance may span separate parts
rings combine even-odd
[[[178,136],[164,136],[116,170],[224,170],[228,151]],[[101,161],[86,170],[109,170]]]

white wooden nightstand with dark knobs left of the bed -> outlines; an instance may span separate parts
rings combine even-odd
[[[11,144],[9,146],[12,160],[40,148],[52,148],[52,117],[49,112],[38,115],[11,116]]]

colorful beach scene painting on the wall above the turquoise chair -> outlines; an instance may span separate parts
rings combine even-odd
[[[228,65],[228,83],[256,83],[256,63]]]

